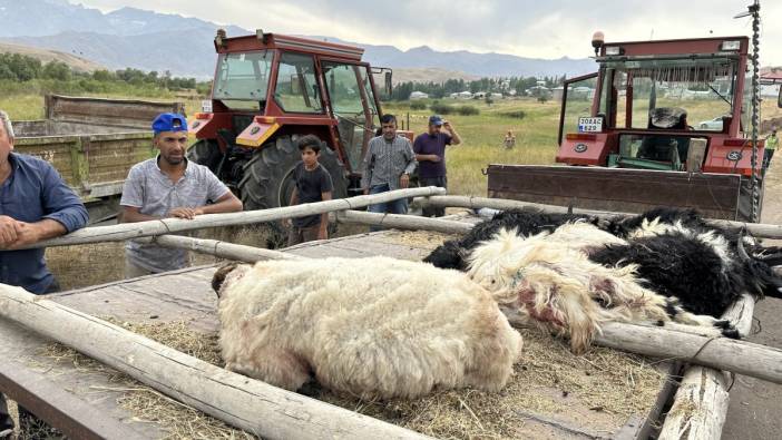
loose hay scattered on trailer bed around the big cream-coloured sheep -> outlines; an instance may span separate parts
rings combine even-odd
[[[119,323],[215,365],[223,365],[217,335],[196,332],[186,322],[157,324]],[[647,360],[610,349],[593,348],[576,356],[563,342],[536,330],[521,330],[525,349],[521,361],[505,390],[438,391],[417,399],[364,401],[321,390],[316,399],[384,420],[437,438],[510,439],[528,438],[524,426],[528,414],[564,420],[577,426],[574,411],[588,408],[602,426],[620,427],[631,415],[646,414],[666,380]],[[59,344],[41,355],[68,362],[84,371],[113,371]],[[114,373],[121,392],[119,405],[143,421],[158,422],[169,438],[252,438],[222,421],[176,402],[139,382]],[[587,417],[589,414],[586,414]]]

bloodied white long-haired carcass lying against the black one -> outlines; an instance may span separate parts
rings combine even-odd
[[[602,234],[607,233],[589,224],[566,224],[553,234],[526,238],[501,229],[472,250],[468,274],[504,307],[568,338],[576,353],[584,352],[609,321],[675,320],[719,327],[712,330],[715,335],[733,335],[735,330],[724,321],[688,313],[676,299],[644,287],[636,276],[637,265],[607,267],[590,261],[588,250],[599,248]],[[613,238],[605,239],[618,244],[618,238],[608,235]]]

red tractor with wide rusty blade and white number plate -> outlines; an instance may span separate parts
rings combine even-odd
[[[756,221],[746,37],[604,43],[598,71],[563,87],[559,151],[568,166],[489,166],[489,195],[579,208],[694,207]],[[753,207],[754,199],[754,207]]]

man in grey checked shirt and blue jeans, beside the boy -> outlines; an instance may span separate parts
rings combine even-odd
[[[416,169],[416,154],[410,140],[397,136],[397,118],[383,115],[380,118],[382,136],[373,137],[366,148],[362,164],[361,187],[364,194],[379,194],[387,190],[407,188],[410,174]],[[407,214],[408,199],[370,205],[371,213]],[[378,231],[379,227],[370,227]]]

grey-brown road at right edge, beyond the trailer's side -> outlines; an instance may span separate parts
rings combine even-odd
[[[779,153],[778,153],[779,154]],[[774,157],[765,176],[763,223],[782,224],[782,157]],[[771,244],[771,243],[770,243]],[[774,243],[780,245],[782,243]],[[766,299],[755,306],[753,331],[749,338],[759,344],[782,348],[782,300]],[[736,377],[731,390],[731,407],[722,438],[779,439],[782,437],[782,385],[761,380]]]

